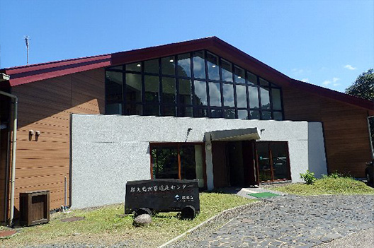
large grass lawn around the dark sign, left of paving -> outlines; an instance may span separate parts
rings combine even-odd
[[[68,242],[115,244],[125,240],[135,240],[137,245],[141,242],[142,247],[157,247],[225,209],[251,202],[253,200],[232,194],[200,193],[200,214],[195,219],[181,220],[177,213],[159,213],[145,228],[132,226],[132,215],[123,215],[123,204],[74,210],[66,214],[54,213],[50,223],[19,228],[14,237],[0,240],[0,247]],[[71,223],[60,221],[72,216],[83,216],[85,219]]]

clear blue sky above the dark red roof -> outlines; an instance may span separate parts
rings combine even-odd
[[[217,36],[344,92],[374,67],[374,0],[0,0],[0,68]]]

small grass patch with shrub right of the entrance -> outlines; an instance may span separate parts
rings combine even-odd
[[[324,177],[314,184],[289,184],[272,189],[288,194],[312,196],[319,194],[374,194],[374,189],[350,177]]]

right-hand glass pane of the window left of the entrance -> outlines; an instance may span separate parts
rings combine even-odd
[[[195,146],[180,146],[182,179],[196,179]]]

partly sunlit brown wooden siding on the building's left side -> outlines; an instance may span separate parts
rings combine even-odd
[[[17,210],[19,194],[25,191],[50,190],[50,208],[64,204],[64,177],[69,190],[70,114],[103,113],[104,87],[104,69],[95,69],[12,88],[18,96]],[[29,140],[29,130],[40,131],[38,141],[35,134]]]

